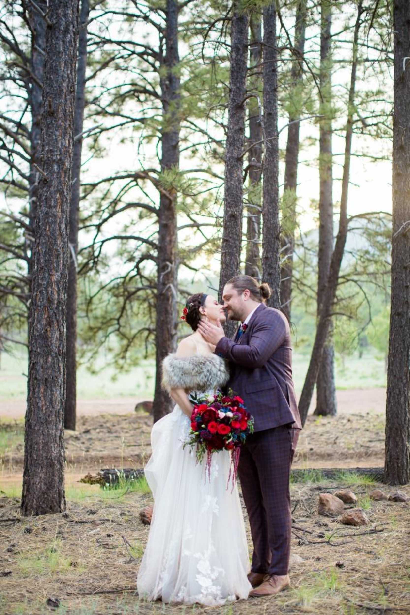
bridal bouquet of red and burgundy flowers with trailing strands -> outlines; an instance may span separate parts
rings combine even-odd
[[[191,431],[185,445],[196,447],[196,461],[206,455],[206,468],[211,480],[212,454],[221,450],[231,452],[233,483],[236,480],[241,445],[247,435],[254,431],[254,419],[246,411],[241,397],[229,390],[229,395],[217,393],[211,397],[191,397],[194,409],[191,415]],[[228,483],[231,477],[231,471]]]

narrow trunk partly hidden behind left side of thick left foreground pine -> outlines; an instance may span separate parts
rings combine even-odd
[[[39,0],[36,3],[42,12],[47,12],[46,0]],[[40,163],[40,138],[41,138],[41,100],[42,88],[41,85],[44,76],[44,55],[46,52],[46,22],[41,17],[38,10],[33,6],[28,7],[28,18],[31,27],[31,72],[36,79],[31,79],[30,87],[30,111],[31,111],[31,129],[30,129],[30,176],[28,181],[28,224],[31,229],[31,234],[26,235],[26,255],[28,256],[28,279],[29,279],[29,294],[31,293],[31,276],[33,275],[33,239],[34,226],[36,224],[36,210],[38,202],[38,181],[39,172],[36,166],[41,167]]]

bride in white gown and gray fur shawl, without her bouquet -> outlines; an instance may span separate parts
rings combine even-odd
[[[209,478],[206,459],[197,464],[195,451],[183,443],[190,432],[190,394],[212,394],[228,380],[225,362],[197,330],[199,320],[226,317],[214,297],[197,293],[182,318],[194,333],[163,362],[163,386],[176,405],[151,432],[145,476],[155,504],[137,589],[146,600],[217,606],[247,598],[252,589],[238,486],[227,488],[230,451],[212,455]]]

